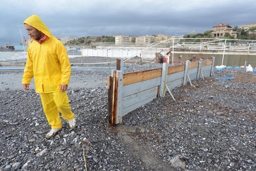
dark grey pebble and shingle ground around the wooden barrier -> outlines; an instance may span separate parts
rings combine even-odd
[[[125,64],[125,72],[159,67]],[[110,70],[74,70],[72,77],[102,84],[69,88],[77,128],[64,121],[51,139],[38,94],[2,90],[0,170],[256,170],[256,83],[227,79],[238,71],[214,70],[215,77],[172,90],[176,102],[166,93],[111,127]]]

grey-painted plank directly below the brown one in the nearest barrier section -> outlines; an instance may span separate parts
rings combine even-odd
[[[122,97],[160,86],[161,77],[123,86]]]

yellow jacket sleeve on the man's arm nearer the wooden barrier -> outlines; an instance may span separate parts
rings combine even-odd
[[[59,42],[59,46],[57,48],[57,57],[60,61],[61,70],[62,70],[62,79],[60,84],[68,85],[71,79],[71,63],[68,58],[68,53],[62,42]]]

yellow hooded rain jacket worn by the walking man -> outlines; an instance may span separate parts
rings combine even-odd
[[[22,83],[30,83],[34,77],[37,93],[61,91],[60,84],[68,85],[71,77],[71,64],[64,45],[51,35],[39,16],[29,16],[24,23],[42,31],[48,38],[41,44],[36,40],[29,44]]]

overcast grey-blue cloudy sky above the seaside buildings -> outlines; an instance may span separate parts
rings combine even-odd
[[[255,0],[2,0],[0,46],[29,39],[23,21],[31,14],[55,37],[183,36],[219,23],[256,24],[255,9]]]

